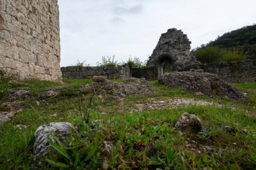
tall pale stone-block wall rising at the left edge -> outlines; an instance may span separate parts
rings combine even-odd
[[[57,0],[0,1],[0,69],[19,79],[60,80]]]

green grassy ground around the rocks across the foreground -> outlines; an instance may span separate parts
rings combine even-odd
[[[0,101],[7,101],[13,87],[30,88],[32,97],[26,108],[10,122],[0,127],[0,169],[33,169],[34,132],[49,122],[71,122],[78,128],[61,148],[46,159],[59,162],[60,169],[254,169],[256,167],[256,83],[236,83],[248,93],[247,101],[226,97],[206,97],[170,89],[150,82],[154,95],[129,95],[122,101],[111,96],[96,95],[92,101],[89,122],[83,121],[91,94],[81,95],[82,83],[90,79],[65,79],[69,89],[58,97],[40,98],[46,87],[61,83],[47,81],[15,82],[3,79]],[[136,103],[148,98],[169,99],[186,97],[215,101],[215,105],[190,105],[185,108],[141,110],[131,112]],[[183,112],[196,114],[209,134],[181,134],[174,124]],[[27,128],[16,128],[16,125]],[[104,142],[113,144],[106,151]],[[62,164],[61,164],[62,163]],[[57,166],[57,165],[56,165]]]

